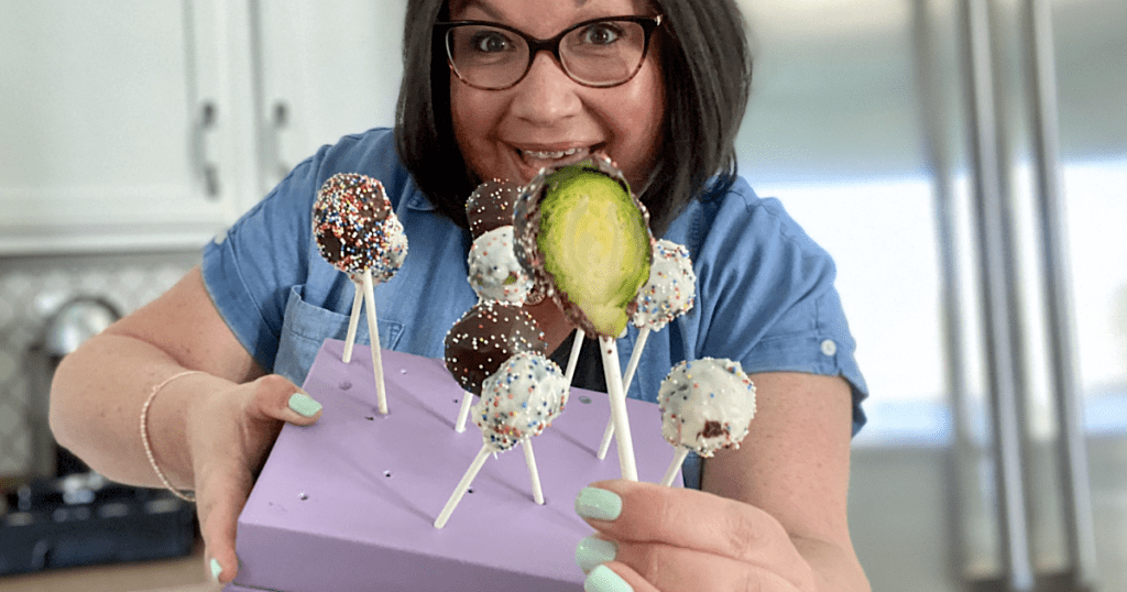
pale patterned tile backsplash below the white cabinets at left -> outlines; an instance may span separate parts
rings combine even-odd
[[[172,286],[199,253],[0,257],[0,478],[30,470],[27,421],[47,397],[29,372],[28,352],[52,316],[74,298],[97,298],[127,315]],[[37,392],[33,392],[36,390]]]

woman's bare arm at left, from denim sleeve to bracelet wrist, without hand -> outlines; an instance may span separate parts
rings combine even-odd
[[[140,440],[141,408],[153,387],[185,370],[206,374],[186,375],[161,389],[148,427],[158,465],[176,486],[190,488],[185,442],[189,404],[201,392],[263,374],[215,310],[198,267],[63,359],[51,386],[55,439],[107,478],[161,487]]]

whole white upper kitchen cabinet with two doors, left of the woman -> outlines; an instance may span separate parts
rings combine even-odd
[[[198,248],[394,123],[399,0],[0,0],[0,256]]]

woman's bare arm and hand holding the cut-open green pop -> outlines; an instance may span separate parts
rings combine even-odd
[[[850,542],[850,392],[838,378],[764,373],[737,451],[704,465],[707,492],[628,480],[579,492],[595,528],[576,548],[585,590],[868,592]]]

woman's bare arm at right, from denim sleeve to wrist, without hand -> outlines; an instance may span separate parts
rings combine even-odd
[[[852,400],[837,377],[753,374],[756,414],[738,450],[704,459],[701,486],[774,516],[818,590],[867,591],[849,534]]]

